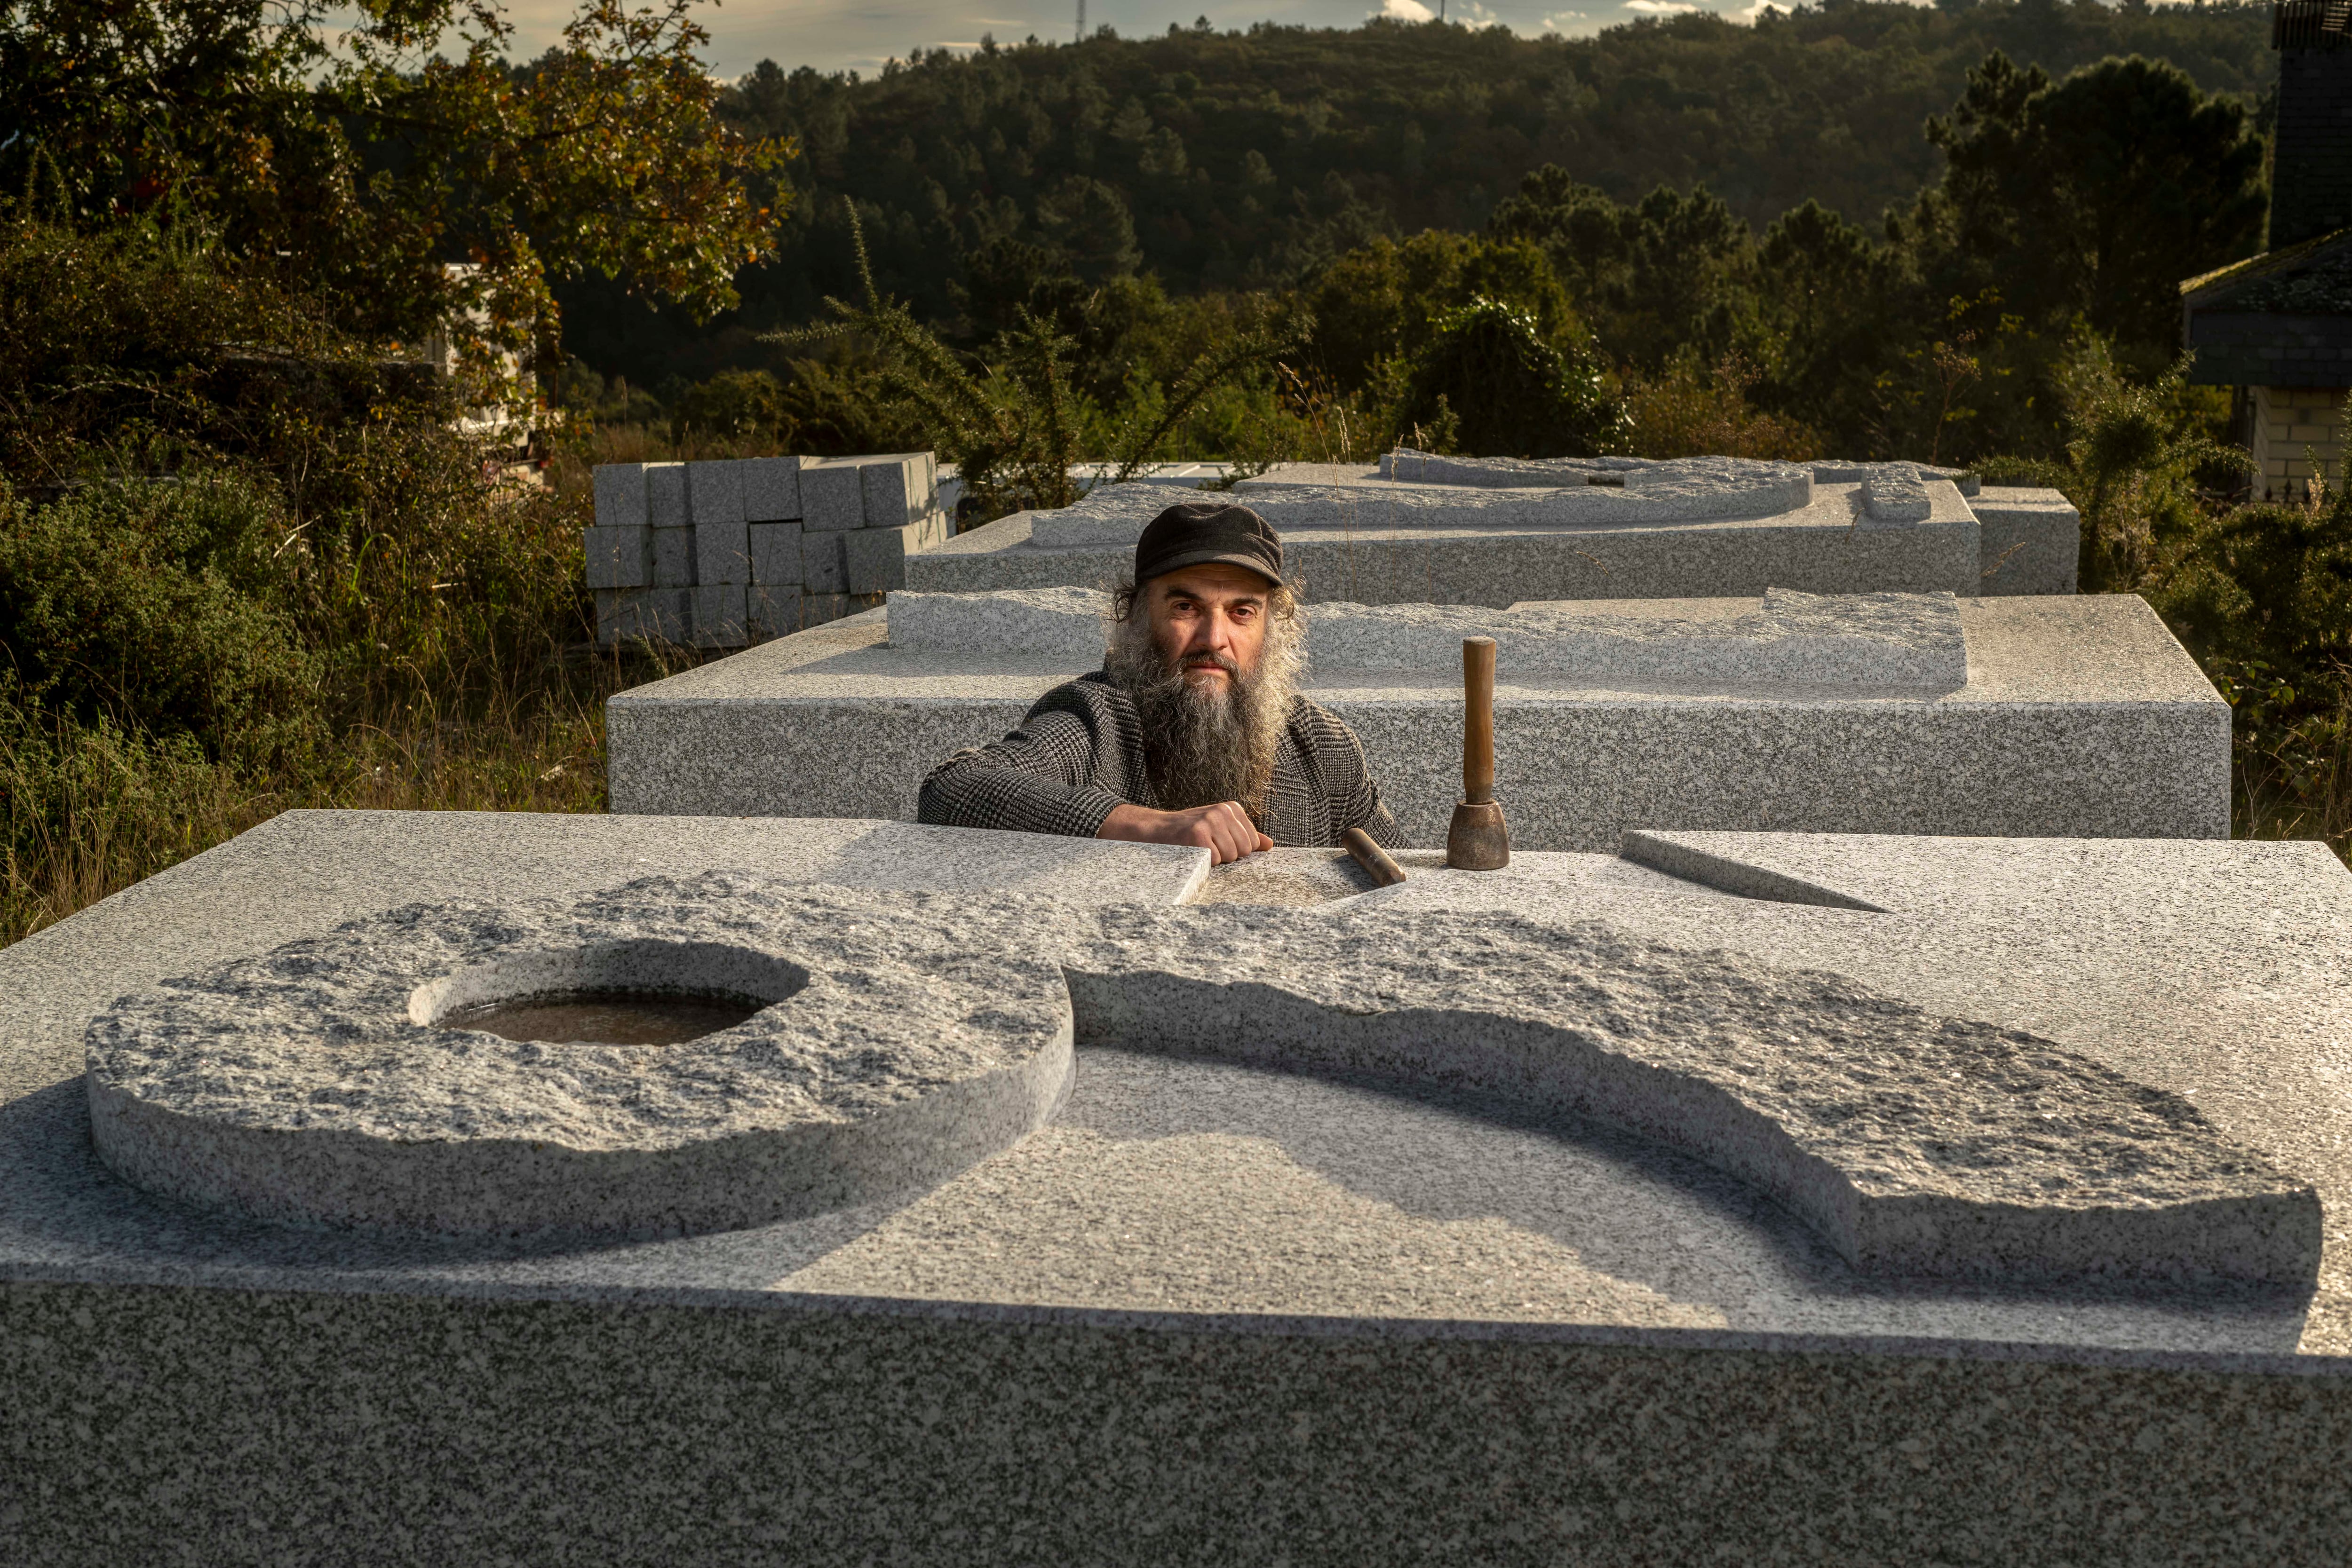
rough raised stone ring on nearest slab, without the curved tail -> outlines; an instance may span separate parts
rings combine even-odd
[[[273,1220],[755,1225],[938,1180],[1051,1112],[1058,973],[976,954],[724,879],[412,905],[125,997],[87,1034],[92,1131],[134,1182]],[[501,964],[522,973],[501,983]],[[607,1046],[435,1027],[419,994],[452,976],[475,980],[456,1001],[550,994],[567,973],[776,1004],[687,1044]]]

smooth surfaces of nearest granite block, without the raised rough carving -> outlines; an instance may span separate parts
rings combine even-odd
[[[2317,1293],[1872,1281],[1585,1119],[1098,1044],[1054,1124],[913,1204],[626,1246],[261,1227],[89,1147],[80,1034],[125,990],[419,896],[790,875],[842,827],[310,813],[0,952],[9,1561],[2352,1552],[2336,1222]],[[2331,1215],[2352,1192],[2324,849],[1677,837],[1884,912],[1541,853],[1324,910],[1501,900],[1839,971],[2183,1095]]]

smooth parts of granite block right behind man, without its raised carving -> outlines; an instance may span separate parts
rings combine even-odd
[[[941,757],[1002,736],[1098,663],[1075,644],[1061,656],[884,646],[889,614],[614,696],[614,809],[913,818]],[[1592,625],[1661,614],[1703,625],[1762,614],[1762,602],[1576,609]],[[1512,844],[1613,851],[1628,827],[2230,832],[2230,708],[2140,599],[1962,599],[1955,614],[1969,661],[1959,686],[1555,675],[1501,661],[1496,788]],[[1355,726],[1409,842],[1442,844],[1461,797],[1461,654],[1439,646],[1451,628],[1432,635],[1425,668],[1350,670],[1319,654],[1312,625],[1308,693]]]

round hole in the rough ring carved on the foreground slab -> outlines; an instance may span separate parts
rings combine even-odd
[[[506,954],[428,980],[409,1023],[515,1041],[675,1046],[746,1023],[809,971],[727,943],[597,943]]]

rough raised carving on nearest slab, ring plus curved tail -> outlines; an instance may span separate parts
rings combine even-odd
[[[621,936],[779,954],[809,983],[661,1051],[409,1018],[440,976]],[[108,1161],[176,1197],[449,1229],[520,1192],[536,1208],[515,1229],[691,1229],[1011,1143],[1063,1093],[1065,1009],[1080,1039],[1599,1117],[1762,1187],[1865,1274],[2307,1284],[2319,1260],[2317,1194],[2187,1100],[2032,1034],[1602,922],[644,879],[572,907],[402,910],[129,997],[92,1025],[87,1079]],[[943,1110],[894,1114],[922,1105]],[[844,1126],[870,1128],[847,1152],[863,1180],[833,1168],[837,1135],[771,1152]]]

